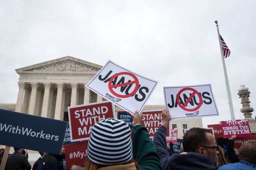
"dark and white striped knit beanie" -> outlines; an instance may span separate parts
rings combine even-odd
[[[129,126],[117,119],[97,122],[90,134],[87,156],[98,165],[117,165],[130,162],[132,141]]]

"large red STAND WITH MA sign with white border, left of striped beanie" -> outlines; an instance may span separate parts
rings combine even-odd
[[[116,118],[114,105],[109,101],[68,107],[71,142],[87,140],[95,123]]]

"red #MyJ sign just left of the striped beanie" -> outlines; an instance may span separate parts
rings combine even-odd
[[[70,169],[72,165],[84,165],[87,155],[88,140],[64,145],[66,168]]]

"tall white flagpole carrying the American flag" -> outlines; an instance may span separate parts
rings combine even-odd
[[[230,109],[231,120],[236,120],[235,119],[235,114],[234,114],[234,109],[233,109],[233,103],[232,103],[232,99],[231,99],[229,83],[228,83],[228,75],[227,75],[227,69],[226,69],[226,64],[225,64],[225,60],[224,60],[224,54],[223,54],[222,45],[221,45],[221,41],[220,41],[220,32],[219,32],[218,21],[215,21],[215,24],[217,24],[217,31],[218,31],[218,37],[219,37],[219,43],[220,43],[221,59],[222,59],[224,76],[225,76],[225,81],[226,81],[226,88],[227,88],[227,93],[228,93],[228,104],[229,104],[229,109]]]

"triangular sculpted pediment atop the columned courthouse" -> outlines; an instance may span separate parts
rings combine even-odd
[[[84,61],[71,56],[42,62],[39,64],[16,69],[16,72],[98,72],[101,65]]]

